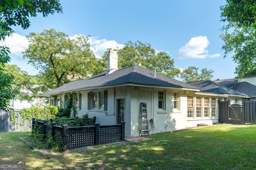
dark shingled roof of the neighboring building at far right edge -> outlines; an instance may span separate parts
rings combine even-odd
[[[256,86],[246,81],[238,81],[237,79],[216,80],[215,82],[227,86],[233,90],[243,92],[248,96],[256,96]]]

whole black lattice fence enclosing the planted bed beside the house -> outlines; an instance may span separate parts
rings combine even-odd
[[[56,122],[52,122],[50,126],[47,125],[47,121],[36,121],[35,118],[32,121],[33,132],[37,129],[44,140],[51,134],[54,141],[63,142],[64,150],[122,141],[124,127],[125,122],[117,125],[100,126],[99,123],[94,123],[92,126],[68,127],[68,125],[56,125]]]

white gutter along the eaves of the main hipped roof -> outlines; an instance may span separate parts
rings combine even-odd
[[[165,88],[165,89],[178,89],[178,90],[190,90],[190,91],[200,91],[199,89],[192,89],[192,88],[175,88],[175,87],[165,87],[165,86],[150,86],[150,85],[142,85],[142,84],[135,84],[135,83],[126,83],[126,84],[119,84],[116,86],[98,86],[98,87],[89,87],[89,88],[81,88],[75,90],[68,90],[68,91],[61,91],[50,95],[43,95],[43,96],[53,96],[58,94],[64,94],[67,92],[74,92],[74,91],[83,91],[83,90],[91,90],[91,89],[102,89],[102,88],[112,88],[112,87],[123,87],[123,86],[138,86],[138,87],[151,87],[151,88]]]

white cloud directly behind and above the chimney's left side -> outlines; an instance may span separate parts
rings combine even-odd
[[[89,43],[96,57],[101,57],[108,48],[120,49],[124,47],[123,44],[119,44],[115,40],[98,39],[97,37],[90,37]]]

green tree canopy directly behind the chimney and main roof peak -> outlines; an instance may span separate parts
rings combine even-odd
[[[108,52],[105,52],[98,63],[103,68],[107,66],[107,54]],[[119,67],[137,65],[141,62],[142,66],[150,70],[156,69],[158,73],[169,77],[174,77],[180,73],[179,69],[175,69],[174,61],[170,55],[165,52],[157,52],[148,43],[128,41],[122,49],[118,50],[117,54]]]

